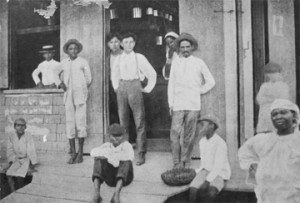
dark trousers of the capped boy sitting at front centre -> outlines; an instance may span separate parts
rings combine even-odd
[[[131,161],[120,161],[119,167],[114,167],[108,163],[104,157],[96,157],[94,159],[94,171],[92,180],[98,178],[101,184],[105,183],[111,187],[115,187],[117,181],[122,179],[123,185],[129,185],[133,180],[133,167]]]

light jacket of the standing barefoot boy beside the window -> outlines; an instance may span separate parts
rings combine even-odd
[[[88,98],[88,86],[92,82],[91,70],[87,60],[79,56],[75,60],[67,58],[61,62],[61,66],[63,81],[67,86],[65,101],[68,95],[73,95],[76,105],[85,103]]]

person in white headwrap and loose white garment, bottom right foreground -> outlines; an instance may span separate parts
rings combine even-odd
[[[247,140],[239,149],[240,166],[255,177],[258,203],[300,202],[299,108],[277,99],[270,116],[276,131]]]

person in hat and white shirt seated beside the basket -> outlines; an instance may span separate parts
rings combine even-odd
[[[224,180],[229,180],[231,169],[227,145],[215,133],[218,128],[217,119],[207,115],[199,121],[203,135],[199,142],[201,166],[190,184],[190,202],[211,202],[223,189]]]

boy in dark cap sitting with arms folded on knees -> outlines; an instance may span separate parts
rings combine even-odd
[[[111,187],[116,187],[111,202],[120,202],[120,192],[123,186],[129,185],[133,180],[132,162],[134,151],[131,144],[126,141],[125,128],[119,124],[112,124],[108,128],[110,142],[91,151],[91,156],[95,157],[93,171],[93,203],[102,201],[100,196],[100,186],[105,183]]]

